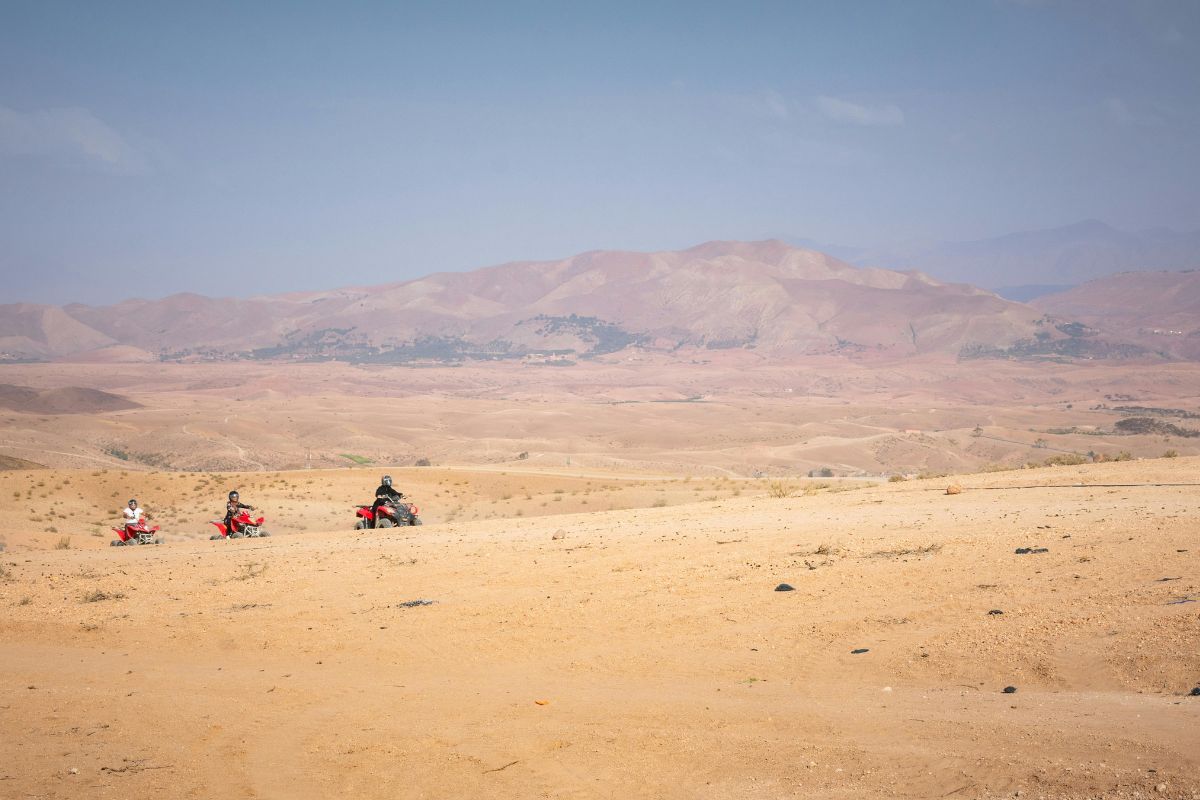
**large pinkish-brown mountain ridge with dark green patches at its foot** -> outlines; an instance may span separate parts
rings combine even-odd
[[[1008,355],[1013,347],[1022,355],[1063,355],[1050,345],[1078,337],[1043,315],[976,287],[856,267],[768,240],[678,252],[594,251],[320,293],[7,306],[0,307],[0,331],[11,333],[4,339],[10,357],[115,347],[164,359],[401,362],[587,357],[629,347],[746,348],[770,357]],[[13,336],[23,325],[32,330]]]

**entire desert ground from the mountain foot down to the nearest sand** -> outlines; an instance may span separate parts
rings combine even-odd
[[[2,367],[0,796],[1200,796],[1194,366],[649,366]]]

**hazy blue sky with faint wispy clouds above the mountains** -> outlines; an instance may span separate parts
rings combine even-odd
[[[1198,143],[1195,0],[0,0],[0,302],[1195,230]]]

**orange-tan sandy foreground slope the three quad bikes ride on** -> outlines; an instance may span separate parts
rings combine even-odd
[[[240,476],[276,536],[210,542],[228,476],[5,474],[0,796],[1200,796],[1196,487],[1147,486],[1200,459],[596,475],[406,474],[431,524],[370,533],[373,473]],[[166,545],[86,529],[126,487]]]

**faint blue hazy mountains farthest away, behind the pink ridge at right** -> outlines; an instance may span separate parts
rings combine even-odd
[[[876,248],[788,237],[858,266],[919,269],[938,281],[971,283],[1018,301],[1114,272],[1200,267],[1200,230],[1117,230],[1090,219],[977,241],[908,242]]]

